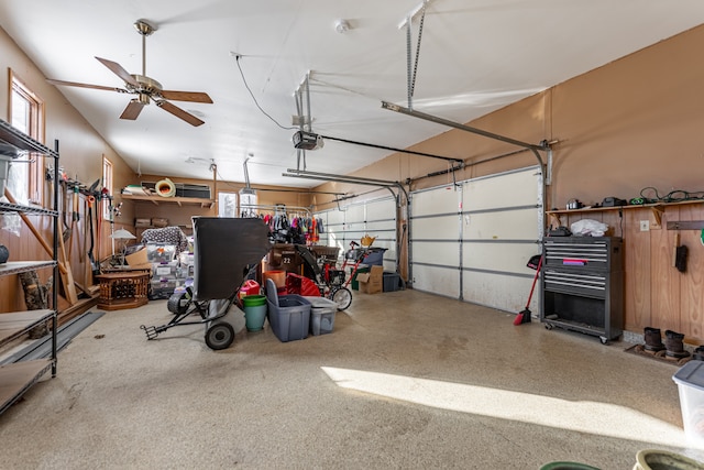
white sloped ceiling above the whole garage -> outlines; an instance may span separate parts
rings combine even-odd
[[[165,89],[205,91],[212,105],[172,101],[201,117],[191,127],[152,105],[119,119],[131,96],[61,87],[108,143],[141,173],[310,187],[297,166],[294,92],[310,74],[315,132],[407,147],[447,131],[381,108],[407,99],[407,32],[421,0],[0,0],[0,25],[50,78],[123,87],[94,57]],[[346,33],[336,22],[348,20]],[[413,107],[457,122],[494,111],[704,21],[701,0],[433,0],[424,22]],[[411,30],[411,50],[418,25]],[[235,54],[241,58],[235,59]],[[246,90],[246,79],[261,108]],[[289,129],[282,129],[289,128]],[[537,142],[535,142],[537,143]],[[348,174],[389,151],[326,141],[307,170]],[[462,156],[462,155],[450,155]],[[186,163],[191,159],[196,163]],[[420,159],[420,156],[419,156]],[[439,166],[444,164],[439,162]]]

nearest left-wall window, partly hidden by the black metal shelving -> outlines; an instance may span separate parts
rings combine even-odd
[[[44,101],[12,70],[10,70],[10,123],[32,139],[44,142]],[[42,204],[44,159],[31,154],[18,159],[18,162],[10,165],[10,172],[8,182],[14,198]]]

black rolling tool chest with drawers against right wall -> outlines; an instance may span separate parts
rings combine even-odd
[[[597,336],[624,330],[624,250],[616,237],[547,237],[542,243],[540,321]]]

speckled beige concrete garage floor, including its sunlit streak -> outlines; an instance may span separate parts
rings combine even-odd
[[[355,293],[330,335],[147,341],[165,300],[109,311],[0,416],[7,469],[631,469],[688,449],[678,367],[414,291]]]

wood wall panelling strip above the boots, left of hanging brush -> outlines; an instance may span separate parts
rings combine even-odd
[[[676,207],[666,210],[664,220],[678,220]],[[652,302],[651,321],[648,325],[682,332],[680,321],[680,272],[672,265],[674,231],[661,228],[650,230],[650,293]]]

